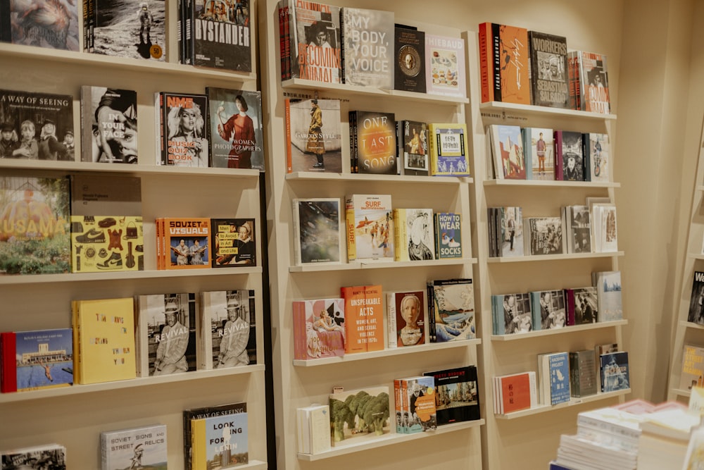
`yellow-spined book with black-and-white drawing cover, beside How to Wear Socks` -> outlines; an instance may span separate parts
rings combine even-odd
[[[394,261],[435,259],[432,209],[394,209]]]

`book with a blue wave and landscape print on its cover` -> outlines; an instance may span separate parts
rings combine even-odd
[[[429,280],[427,291],[430,342],[477,337],[472,279]]]

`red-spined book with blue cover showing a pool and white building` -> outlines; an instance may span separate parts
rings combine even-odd
[[[0,333],[0,391],[25,392],[73,385],[73,331]]]

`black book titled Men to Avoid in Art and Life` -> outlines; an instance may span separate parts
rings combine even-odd
[[[257,237],[254,222],[253,218],[211,218],[213,256],[210,266],[256,266]]]

